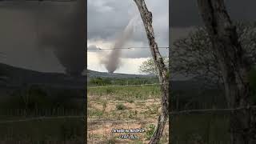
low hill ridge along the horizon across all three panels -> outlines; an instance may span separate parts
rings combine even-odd
[[[110,74],[94,70],[87,70],[86,74],[80,76],[70,76],[59,73],[42,73],[0,63],[0,86],[21,86],[24,83],[28,83],[49,86],[77,87],[83,89],[84,86],[86,86],[86,80],[90,78],[156,78],[154,75],[120,73]],[[203,85],[203,82],[190,79],[186,81],[173,81],[171,82],[171,85],[173,90],[186,90],[200,87]]]

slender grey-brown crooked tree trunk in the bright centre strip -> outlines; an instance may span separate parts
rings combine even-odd
[[[167,69],[163,62],[162,56],[158,50],[158,44],[154,40],[154,29],[152,26],[152,13],[147,9],[146,3],[144,0],[134,0],[136,5],[138,6],[138,10],[141,14],[142,21],[146,30],[146,36],[148,38],[150,51],[152,57],[154,59],[154,64],[158,68],[158,78],[161,83],[162,90],[162,111],[158,118],[158,126],[156,130],[154,130],[154,134],[150,139],[150,143],[158,143],[160,138],[162,137],[162,132],[166,125],[166,120],[168,119],[168,96],[169,96],[169,86],[168,86],[168,78],[167,78]]]

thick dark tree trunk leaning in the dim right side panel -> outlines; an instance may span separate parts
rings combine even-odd
[[[206,30],[210,35],[214,53],[218,57],[230,108],[250,106],[250,88],[248,74],[249,62],[246,62],[242,46],[238,42],[236,27],[227,14],[224,0],[198,0],[198,9]],[[254,126],[250,110],[241,110],[231,114],[230,142],[249,144],[253,142]]]

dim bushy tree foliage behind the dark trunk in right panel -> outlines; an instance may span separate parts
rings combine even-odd
[[[256,65],[256,23],[236,22],[235,25],[246,59],[251,66]],[[223,82],[206,27],[197,27],[188,37],[178,39],[170,51],[170,58],[175,62],[172,71],[205,78],[214,84]]]

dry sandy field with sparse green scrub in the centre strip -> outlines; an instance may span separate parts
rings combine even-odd
[[[147,143],[160,112],[159,86],[89,88],[87,91],[88,143]],[[168,143],[168,125],[161,143]],[[138,138],[122,139],[112,129],[143,128]]]

